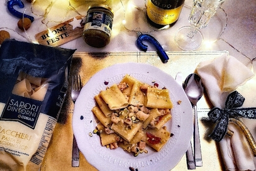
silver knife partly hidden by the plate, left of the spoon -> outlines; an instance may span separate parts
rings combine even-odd
[[[183,87],[183,76],[181,72],[178,72],[175,77],[176,82]],[[187,169],[194,170],[196,169],[196,163],[194,161],[194,155],[192,150],[192,143],[190,142],[189,149],[187,149],[186,152],[186,158],[187,158]]]

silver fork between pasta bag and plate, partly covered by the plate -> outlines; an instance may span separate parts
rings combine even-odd
[[[71,83],[71,99],[75,104],[77,97],[80,94],[82,89],[82,82],[80,75],[72,76]],[[79,167],[79,148],[77,146],[77,141],[75,140],[75,136],[73,135],[73,146],[72,146],[72,167]]]

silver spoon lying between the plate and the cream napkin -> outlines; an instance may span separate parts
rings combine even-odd
[[[203,96],[204,87],[201,78],[197,74],[189,74],[184,81],[184,91],[194,108],[194,158],[196,166],[203,166],[201,145],[198,130],[198,110],[196,104]]]

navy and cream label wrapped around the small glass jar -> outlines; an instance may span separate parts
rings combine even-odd
[[[84,30],[97,29],[111,36],[113,18],[105,13],[92,12],[87,14]]]

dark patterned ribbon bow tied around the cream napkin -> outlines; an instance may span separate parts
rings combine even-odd
[[[245,98],[237,91],[231,92],[225,102],[225,109],[213,108],[208,116],[216,123],[213,133],[209,135],[215,141],[221,141],[228,130],[229,118],[256,119],[256,108],[240,108]]]

